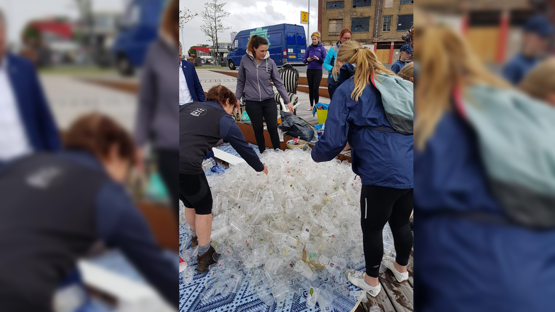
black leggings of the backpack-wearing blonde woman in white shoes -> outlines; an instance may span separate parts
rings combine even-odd
[[[382,230],[389,221],[397,264],[407,265],[412,249],[412,232],[408,218],[412,211],[413,189],[394,189],[362,185],[360,194],[362,240],[366,274],[378,277],[384,256]]]

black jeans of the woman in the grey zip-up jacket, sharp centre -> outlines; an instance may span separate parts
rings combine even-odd
[[[262,101],[246,100],[246,113],[249,114],[250,122],[253,124],[254,138],[260,153],[266,150],[266,142],[264,140],[264,120],[272,141],[274,149],[280,148],[280,140],[278,134],[278,106],[274,98]]]

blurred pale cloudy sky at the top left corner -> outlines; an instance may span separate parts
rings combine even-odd
[[[93,0],[93,11],[122,12],[129,0]],[[25,24],[36,18],[67,16],[77,18],[74,0],[0,0],[0,8],[8,19],[8,42],[19,43]]]

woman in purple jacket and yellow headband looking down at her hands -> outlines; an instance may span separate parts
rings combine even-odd
[[[320,43],[320,33],[314,32],[310,37],[312,38],[312,44],[306,47],[305,56],[302,58],[303,63],[309,63],[308,69],[306,69],[306,79],[309,83],[310,108],[307,111],[312,110],[312,105],[318,103],[320,99],[322,63],[326,58],[326,49]]]

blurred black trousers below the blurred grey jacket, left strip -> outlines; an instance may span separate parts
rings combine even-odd
[[[179,220],[179,150],[157,149],[156,159],[160,177],[170,195],[170,208],[175,214],[175,225]]]

